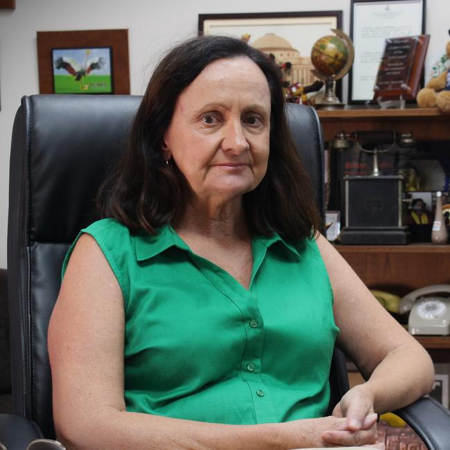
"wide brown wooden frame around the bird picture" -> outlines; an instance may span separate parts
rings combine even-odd
[[[128,30],[38,31],[37,64],[39,93],[55,93],[53,87],[53,57],[58,48],[111,48],[111,93],[129,94]],[[84,93],[80,91],[80,93]]]

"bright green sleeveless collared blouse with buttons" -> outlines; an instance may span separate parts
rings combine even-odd
[[[254,237],[247,290],[171,226],[133,235],[102,219],[82,233],[123,292],[127,411],[225,424],[325,415],[339,328],[315,240]]]

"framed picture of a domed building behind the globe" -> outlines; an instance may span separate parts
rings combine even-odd
[[[200,14],[199,34],[231,35],[275,56],[278,63],[291,63],[294,84],[312,84],[311,50],[319,37],[342,28],[342,11],[262,12],[246,14]],[[336,82],[341,98],[341,80]]]

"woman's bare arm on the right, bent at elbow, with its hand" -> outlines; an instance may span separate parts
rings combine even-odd
[[[334,413],[348,417],[350,429],[359,429],[368,412],[393,411],[429,393],[433,363],[332,244],[322,235],[317,243],[333,289],[334,318],[341,329],[337,345],[367,380],[350,390]]]

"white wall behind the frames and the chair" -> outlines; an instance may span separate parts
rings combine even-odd
[[[429,65],[449,39],[450,2],[427,3]],[[0,267],[6,267],[10,134],[20,98],[39,93],[38,30],[128,28],[131,90],[141,94],[161,52],[197,33],[198,14],[307,10],[343,10],[343,30],[349,33],[350,0],[16,0],[15,10],[0,10]],[[345,86],[344,78],[344,100]]]

